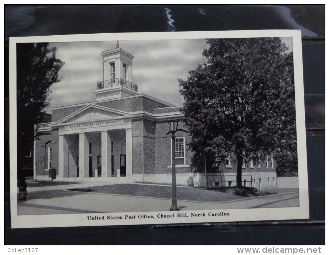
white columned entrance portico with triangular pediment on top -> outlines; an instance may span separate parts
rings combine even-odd
[[[59,178],[132,177],[130,114],[90,104],[52,127],[58,127]]]

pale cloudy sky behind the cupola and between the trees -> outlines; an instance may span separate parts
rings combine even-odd
[[[292,51],[292,39],[281,38]],[[117,41],[57,42],[56,57],[65,62],[59,75],[63,79],[50,89],[51,108],[78,103],[94,102],[97,82],[103,80],[101,52],[115,48]],[[182,105],[177,79],[186,80],[189,71],[203,63],[202,51],[207,48],[204,39],[132,40],[119,41],[119,47],[131,53],[133,83],[138,92],[157,99]]]

